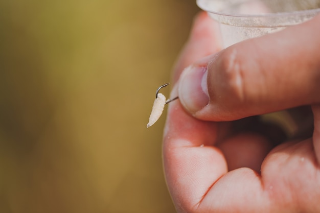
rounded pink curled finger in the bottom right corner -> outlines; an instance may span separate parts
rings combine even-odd
[[[311,138],[272,150],[261,177],[279,212],[320,212],[320,170]]]

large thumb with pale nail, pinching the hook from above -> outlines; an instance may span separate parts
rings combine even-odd
[[[182,72],[178,96],[201,120],[231,121],[320,102],[320,16],[230,46]]]

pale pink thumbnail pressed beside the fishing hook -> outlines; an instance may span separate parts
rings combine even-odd
[[[209,103],[207,75],[207,66],[189,66],[179,79],[179,100],[192,114]]]

